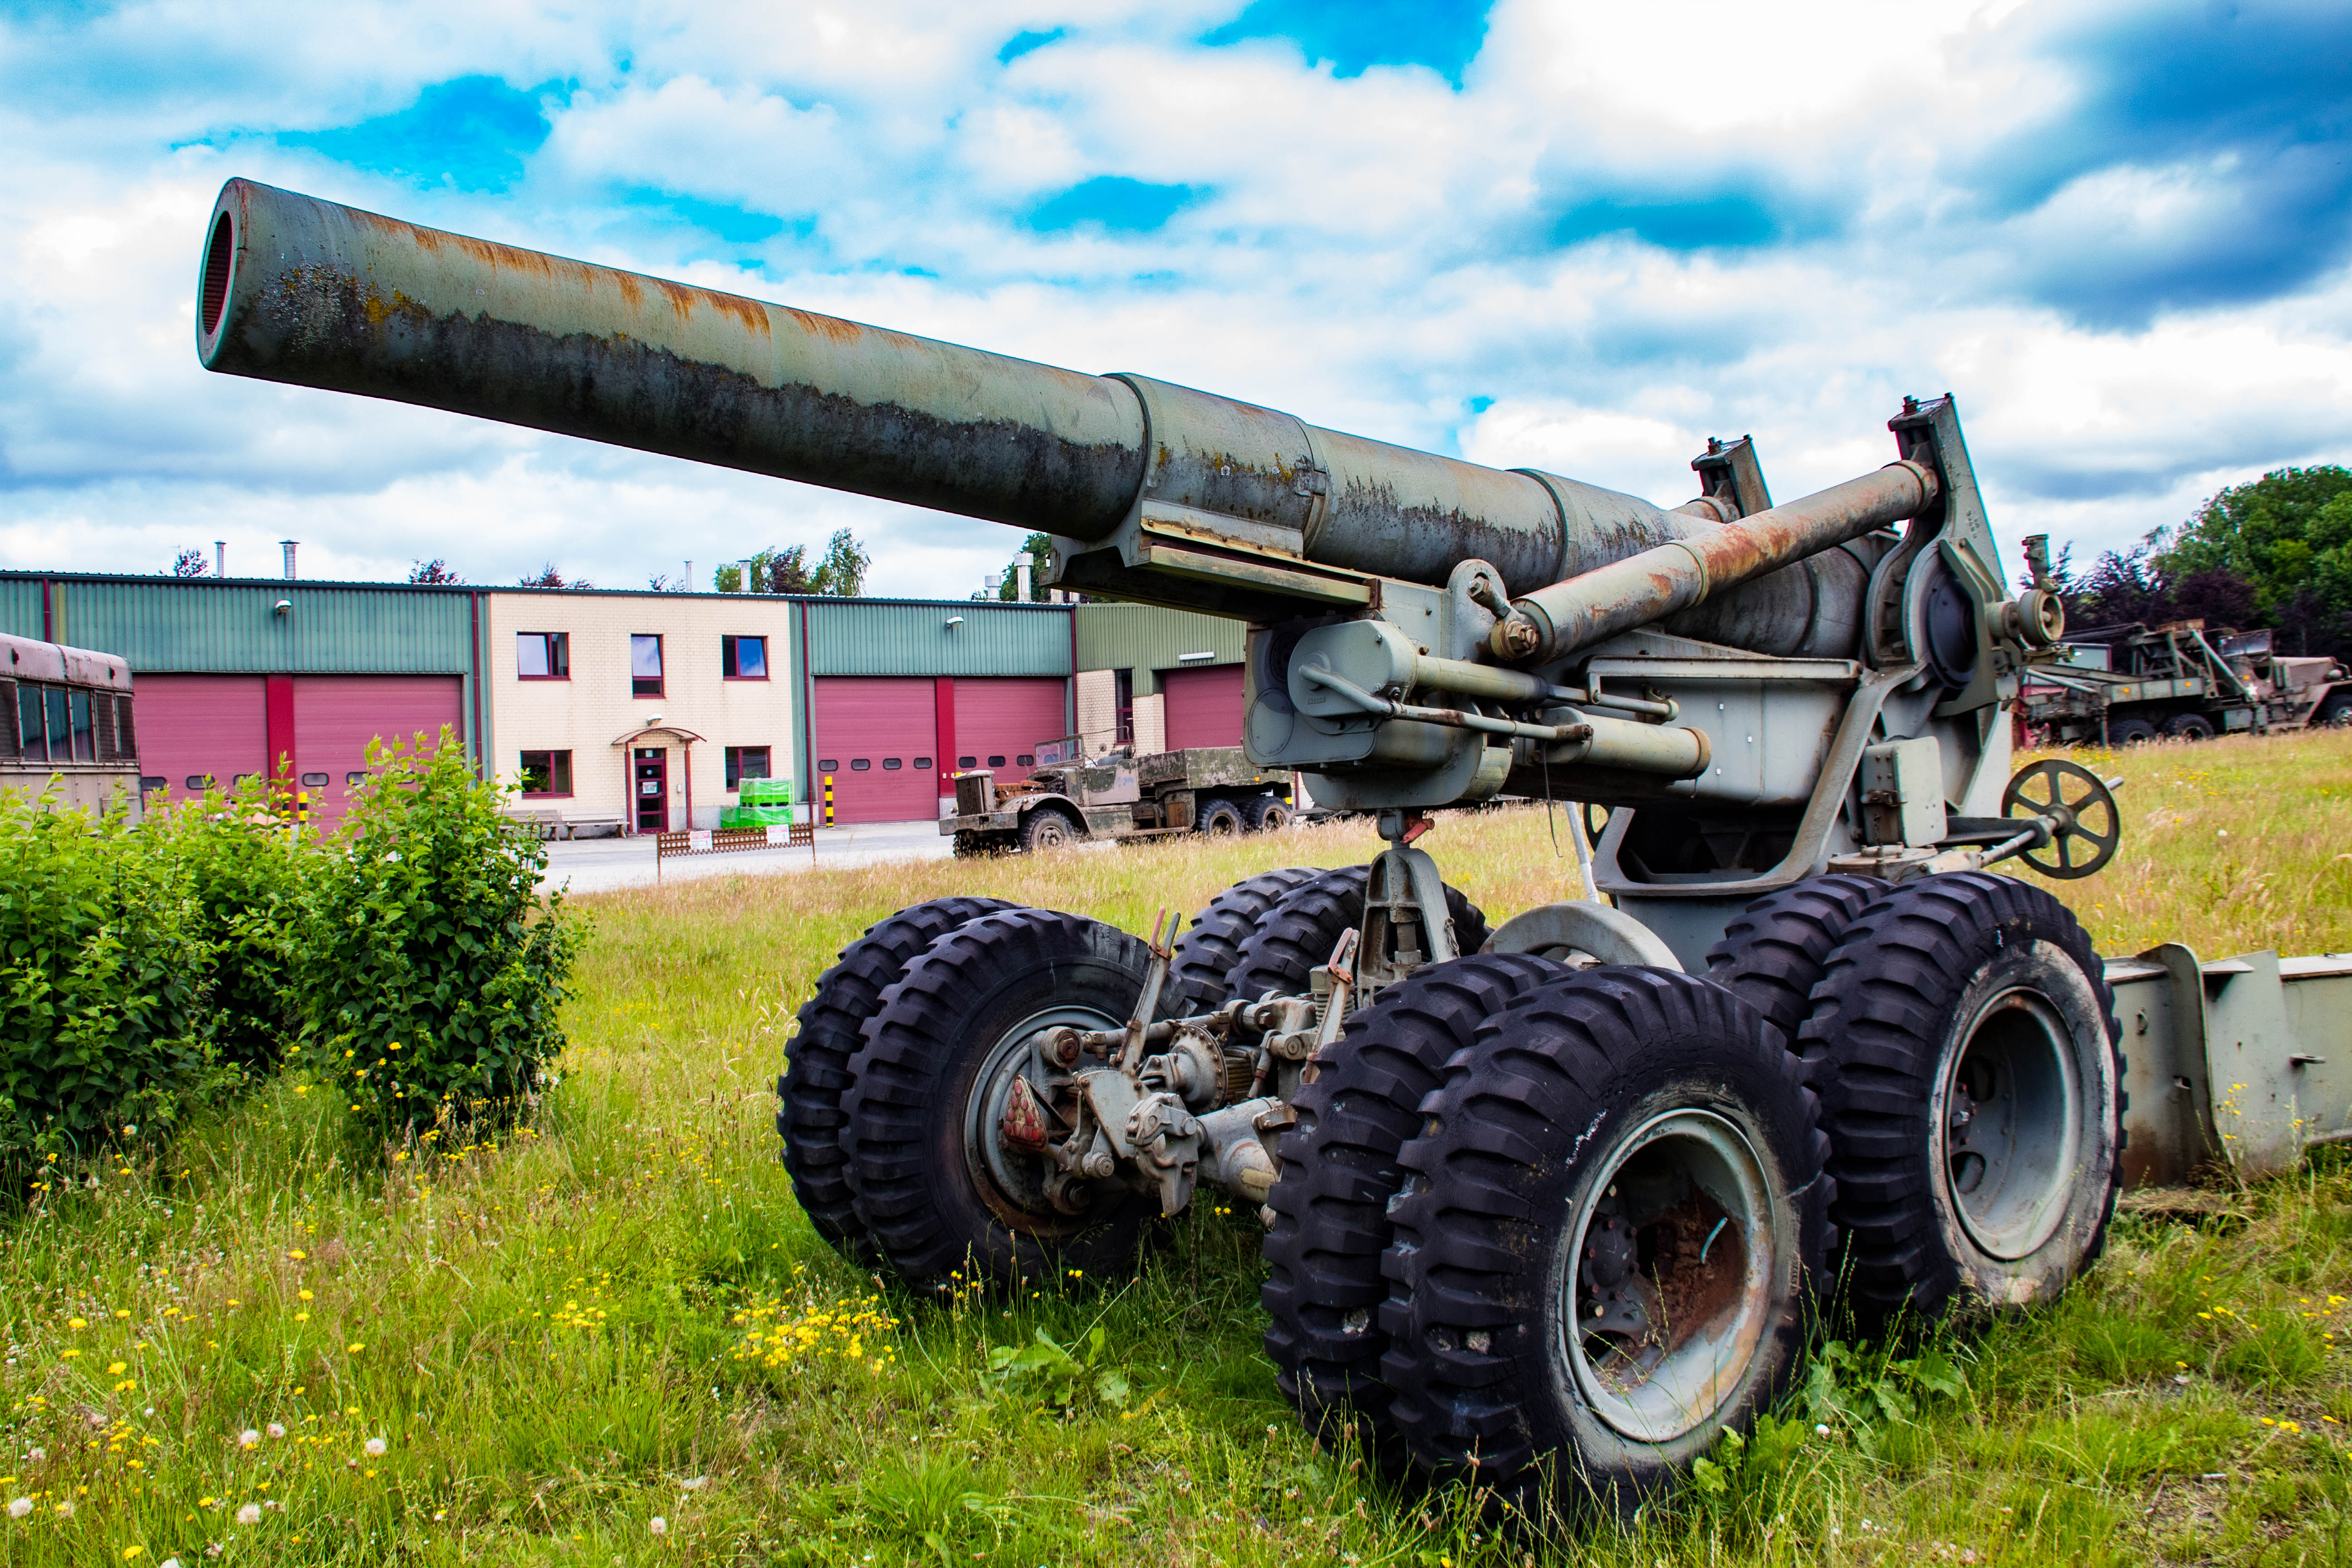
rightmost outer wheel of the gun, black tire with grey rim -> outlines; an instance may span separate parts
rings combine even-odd
[[[2122,1175],[2114,992],[2037,886],[1957,872],[1856,919],[1813,990],[1849,1300],[2049,1300],[2098,1258]]]

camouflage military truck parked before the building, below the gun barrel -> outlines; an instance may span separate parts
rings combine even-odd
[[[1176,752],[1115,748],[1089,759],[1084,738],[1037,748],[1028,778],[1000,785],[990,769],[955,776],[955,816],[938,830],[955,853],[1058,849],[1082,839],[1148,839],[1200,832],[1230,839],[1291,820],[1291,780],[1249,762],[1240,745]]]

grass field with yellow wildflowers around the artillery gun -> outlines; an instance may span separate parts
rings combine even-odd
[[[2126,778],[2126,846],[2060,891],[2103,952],[2352,947],[2352,736],[2100,769]],[[1011,1307],[901,1300],[809,1232],[771,1086],[793,1011],[866,924],[978,891],[1143,929],[1374,844],[1301,830],[583,900],[574,1044],[524,1133],[353,1166],[339,1105],[292,1074],[0,1218],[0,1500],[24,1500],[0,1563],[2352,1556],[2333,1157],[2220,1185],[2194,1220],[2119,1220],[2042,1314],[1900,1361],[1839,1347],[1788,1441],[1569,1544],[1317,1453],[1258,1354],[1244,1215],[1204,1206],[1136,1276]],[[1425,844],[1489,914],[1569,882],[1541,811]],[[1040,1331],[1068,1361],[990,1373]]]

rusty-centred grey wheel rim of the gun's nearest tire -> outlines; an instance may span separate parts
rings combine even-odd
[[[1637,1126],[1569,1225],[1562,1349],[1576,1389],[1642,1443],[1696,1432],[1771,1321],[1778,1199],[1748,1135],[1705,1110]]]

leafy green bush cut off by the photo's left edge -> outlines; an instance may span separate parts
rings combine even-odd
[[[0,790],[0,1168],[160,1131],[219,1086],[191,905],[122,813]]]

